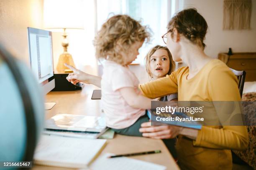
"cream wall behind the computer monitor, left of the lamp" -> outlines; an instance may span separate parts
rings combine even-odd
[[[0,1],[0,47],[28,64],[27,27],[42,28],[43,0]]]

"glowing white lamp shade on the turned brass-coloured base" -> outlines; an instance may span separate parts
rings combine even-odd
[[[44,0],[45,29],[84,29],[83,0]]]

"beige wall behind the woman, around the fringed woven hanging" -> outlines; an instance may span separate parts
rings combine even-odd
[[[218,57],[219,52],[256,52],[256,0],[252,0],[251,30],[222,30],[224,0],[184,0],[184,8],[195,7],[205,18],[208,32],[205,52]]]

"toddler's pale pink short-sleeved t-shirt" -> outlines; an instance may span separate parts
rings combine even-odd
[[[133,87],[137,94],[138,78],[129,67],[123,67],[113,61],[105,61],[101,80],[101,102],[106,115],[107,126],[123,129],[133,125],[142,115],[144,109],[133,108],[124,100],[119,92],[123,87]]]

